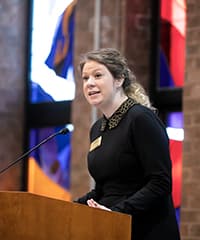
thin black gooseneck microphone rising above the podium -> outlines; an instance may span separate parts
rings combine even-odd
[[[63,128],[58,132],[55,132],[53,134],[51,134],[50,136],[48,136],[47,138],[45,138],[42,142],[40,142],[39,144],[37,144],[35,147],[29,149],[27,152],[25,152],[23,155],[21,155],[19,158],[17,158],[16,160],[14,160],[13,162],[11,162],[10,164],[8,164],[8,166],[6,166],[5,168],[0,170],[0,174],[2,174],[3,172],[5,172],[7,169],[9,169],[10,167],[12,167],[13,165],[15,165],[16,163],[18,163],[20,160],[22,160],[23,158],[25,158],[27,155],[29,155],[31,152],[33,152],[35,149],[39,148],[41,145],[43,145],[44,143],[48,142],[50,139],[54,138],[57,135],[61,135],[61,134],[67,134],[69,133],[70,130],[68,128]]]

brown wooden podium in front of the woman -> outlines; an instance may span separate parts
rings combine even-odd
[[[130,240],[131,217],[28,192],[0,192],[0,239]]]

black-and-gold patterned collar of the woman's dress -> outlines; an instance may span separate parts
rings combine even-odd
[[[135,104],[135,101],[132,98],[128,98],[126,101],[124,101],[121,106],[116,110],[116,112],[113,113],[113,115],[110,118],[106,118],[103,116],[101,121],[101,128],[100,131],[105,131],[106,126],[108,126],[108,129],[112,129],[117,127],[119,122],[122,120],[125,113]]]

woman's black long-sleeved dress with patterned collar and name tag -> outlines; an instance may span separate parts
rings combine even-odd
[[[96,185],[77,202],[93,198],[132,215],[134,240],[179,240],[169,142],[157,115],[129,98],[92,126],[90,139],[88,169]]]

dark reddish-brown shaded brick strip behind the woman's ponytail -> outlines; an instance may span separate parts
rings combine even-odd
[[[151,1],[126,1],[125,55],[138,82],[149,89]]]

